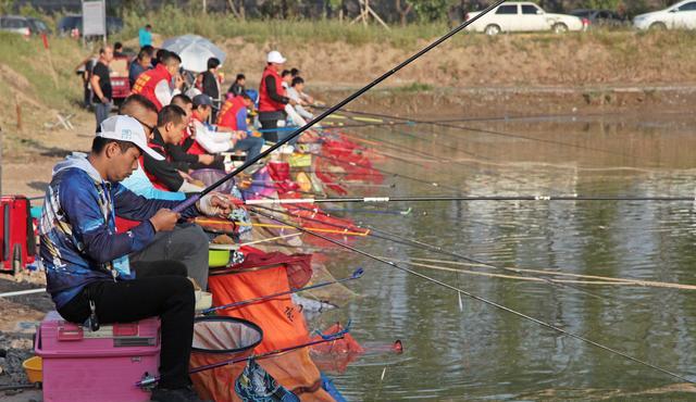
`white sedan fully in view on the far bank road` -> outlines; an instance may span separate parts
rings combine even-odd
[[[469,21],[480,14],[470,12]],[[539,32],[552,30],[557,34],[569,30],[583,30],[585,25],[581,18],[573,15],[551,14],[532,2],[506,2],[498,5],[487,15],[467,27],[468,30],[498,35],[508,32]]]

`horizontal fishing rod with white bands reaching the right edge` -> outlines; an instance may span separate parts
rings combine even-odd
[[[636,201],[696,202],[696,197],[612,197],[612,196],[423,196],[423,197],[337,197],[247,200],[247,205],[320,204],[320,203],[386,203],[386,202],[449,202],[449,201]]]

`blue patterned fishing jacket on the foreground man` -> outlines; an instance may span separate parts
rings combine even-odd
[[[119,183],[103,180],[85,154],[74,153],[59,162],[46,191],[39,228],[39,255],[55,305],[65,305],[88,284],[133,279],[128,254],[152,241],[149,218],[179,203],[148,200]],[[116,215],[142,223],[119,234]],[[196,215],[195,205],[182,213],[183,217]]]

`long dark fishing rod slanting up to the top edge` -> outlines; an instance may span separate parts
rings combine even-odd
[[[480,14],[476,14],[473,18],[461,23],[459,26],[455,27],[449,33],[445,34],[444,36],[442,36],[440,38],[438,38],[437,40],[435,40],[431,45],[428,45],[425,48],[421,49],[415,54],[411,55],[410,58],[408,58],[403,62],[399,63],[394,68],[389,70],[388,72],[386,72],[384,74],[382,74],[380,77],[374,79],[372,83],[365,85],[364,87],[362,87],[358,91],[356,91],[352,95],[350,95],[348,98],[341,100],[340,102],[338,102],[335,105],[331,106],[330,109],[325,110],[322,114],[320,114],[319,116],[312,118],[312,121],[308,122],[302,127],[300,127],[297,130],[293,131],[293,134],[290,134],[289,136],[287,136],[283,140],[277,141],[275,145],[273,145],[268,150],[261,152],[260,154],[258,154],[254,158],[248,159],[247,161],[245,161],[245,163],[241,166],[235,168],[234,171],[229,172],[227,175],[225,175],[220,180],[217,180],[217,181],[213,183],[212,185],[208,186],[200,193],[198,193],[196,196],[192,196],[192,197],[188,198],[186,201],[184,201],[181,204],[178,204],[174,209],[174,211],[175,212],[182,212],[185,209],[194,205],[201,197],[203,197],[203,196],[208,194],[209,192],[215,190],[217,187],[222,186],[223,184],[225,184],[231,178],[233,178],[236,175],[238,175],[239,173],[244,172],[247,167],[253,165],[254,163],[259,162],[263,158],[270,155],[275,150],[277,150],[278,148],[283,147],[285,143],[289,142],[290,140],[295,139],[296,137],[298,137],[299,135],[301,135],[306,130],[310,129],[316,123],[323,121],[324,118],[326,118],[331,114],[337,112],[338,110],[340,110],[346,104],[348,104],[348,103],[352,102],[353,100],[360,98],[363,93],[365,93],[370,89],[374,88],[375,86],[377,86],[378,84],[381,84],[385,79],[389,78],[390,76],[396,74],[401,68],[406,67],[407,65],[411,64],[415,60],[420,59],[423,54],[425,54],[425,53],[430,52],[431,50],[435,49],[436,47],[438,47],[440,43],[443,43],[447,39],[451,38],[452,36],[457,35],[459,32],[461,32],[464,28],[467,28],[469,25],[475,23],[476,21],[478,21],[478,18],[481,18],[484,15],[488,14],[490,11],[493,11],[494,9],[496,9],[498,5],[502,4],[504,2],[506,2],[506,0],[497,0],[497,1],[495,1],[494,3],[488,5],[486,9],[484,9]]]

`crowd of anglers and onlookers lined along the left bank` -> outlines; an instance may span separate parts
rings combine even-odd
[[[223,93],[214,58],[189,83],[179,55],[154,49],[149,33],[140,33],[146,43],[129,64],[132,93],[117,115],[109,72],[116,50],[104,46],[85,68],[97,130],[88,154],[74,153],[53,169],[40,256],[65,319],[95,328],[159,316],[161,380],[152,401],[198,402],[187,370],[194,289],[207,287],[209,238],[185,219],[227,217],[243,203],[210,193],[185,206],[203,189],[191,174],[229,171],[227,152],[256,158],[266,142],[285,138],[285,126],[312,118],[313,99],[277,51],[268,54],[259,91],[238,74]]]

